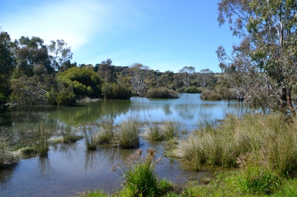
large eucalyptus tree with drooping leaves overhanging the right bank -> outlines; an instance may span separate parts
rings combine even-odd
[[[242,39],[230,57],[222,46],[217,54],[223,71],[248,73],[247,104],[295,113],[297,0],[220,0],[218,12]]]

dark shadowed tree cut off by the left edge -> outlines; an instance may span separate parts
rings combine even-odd
[[[15,67],[12,41],[0,29],[0,106],[3,108],[10,95],[10,79]]]

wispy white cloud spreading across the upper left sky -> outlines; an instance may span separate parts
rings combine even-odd
[[[18,6],[13,3],[6,1],[5,8],[11,6],[11,11],[0,14],[0,25],[13,39],[39,36],[46,43],[64,39],[73,50],[112,31],[137,29],[146,17],[139,7],[122,0],[27,1]]]

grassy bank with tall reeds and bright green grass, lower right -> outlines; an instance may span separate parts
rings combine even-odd
[[[148,130],[161,131],[161,126],[151,123]],[[166,197],[234,197],[234,196],[297,196],[297,118],[282,114],[227,115],[219,124],[204,121],[198,129],[183,137],[165,141],[165,154],[181,158],[192,170],[201,164],[225,166],[225,172],[213,179],[167,184],[164,193],[140,193],[137,184],[127,181],[129,173],[139,170],[138,162],[123,168],[124,187],[114,194],[102,191],[81,193],[80,196],[166,196]],[[148,131],[145,131],[148,132]],[[156,140],[156,139],[155,139]],[[150,168],[152,169],[152,168]],[[152,174],[154,171],[147,171]],[[140,174],[139,171],[137,173]],[[155,189],[160,188],[156,179]],[[165,184],[165,185],[166,185]],[[134,189],[127,192],[127,185]],[[148,190],[146,190],[148,191]]]

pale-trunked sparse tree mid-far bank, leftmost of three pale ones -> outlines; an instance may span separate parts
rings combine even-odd
[[[132,88],[137,96],[144,96],[148,88],[149,67],[140,63],[129,66]]]

